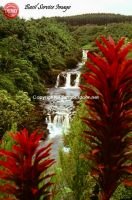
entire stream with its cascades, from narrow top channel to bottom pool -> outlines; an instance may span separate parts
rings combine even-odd
[[[85,59],[86,52],[83,52]],[[84,63],[78,63],[77,68],[61,72],[57,76],[55,87],[48,89],[44,102],[49,131],[47,142],[52,142],[52,156],[57,158],[60,146],[63,146],[63,133],[70,127],[70,120],[75,110],[76,98],[80,95],[80,69]],[[63,148],[65,151],[68,149]]]

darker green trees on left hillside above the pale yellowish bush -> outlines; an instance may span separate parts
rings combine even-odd
[[[75,39],[64,24],[55,20],[6,20],[0,13],[0,27],[0,73],[11,73],[14,87],[29,95],[39,93],[39,89],[44,94],[47,71],[67,68],[67,55],[76,57]]]

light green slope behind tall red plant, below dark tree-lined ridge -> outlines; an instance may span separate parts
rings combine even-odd
[[[72,29],[73,35],[79,42],[83,49],[93,51],[95,47],[95,39],[101,35],[108,37],[111,35],[114,40],[118,40],[121,37],[126,37],[128,41],[132,38],[132,24],[131,23],[114,23],[107,25],[84,25],[77,26]]]

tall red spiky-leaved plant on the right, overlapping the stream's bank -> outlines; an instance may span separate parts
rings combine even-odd
[[[86,95],[99,97],[86,100],[90,115],[84,121],[90,129],[84,135],[90,151],[85,158],[100,185],[99,199],[108,200],[120,183],[132,186],[132,44],[103,36],[96,44],[100,53],[88,53],[81,86]]]

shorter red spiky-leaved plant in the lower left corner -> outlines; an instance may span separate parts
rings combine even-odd
[[[47,170],[54,163],[49,158],[51,144],[39,147],[43,133],[37,131],[29,134],[24,129],[11,135],[15,142],[12,150],[0,150],[0,179],[5,181],[0,192],[8,194],[9,199],[38,200],[40,196],[49,199],[53,174]]]

